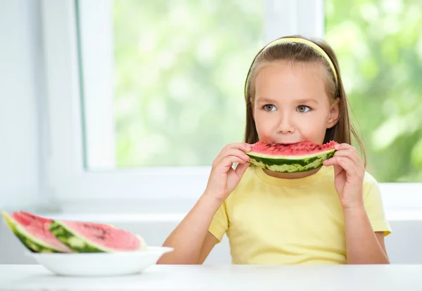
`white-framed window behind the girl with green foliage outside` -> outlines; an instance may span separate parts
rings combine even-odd
[[[419,169],[421,4],[404,1],[407,20],[397,22],[402,15],[381,13],[394,1],[359,1],[352,16],[339,0],[247,2],[42,1],[45,176],[62,209],[189,209],[220,148],[243,137],[252,57],[286,34],[332,44],[366,136],[369,171],[388,182],[385,206],[422,208],[419,183],[392,183],[419,181],[410,174]],[[373,15],[387,37],[366,34]],[[409,120],[411,130],[399,136]]]

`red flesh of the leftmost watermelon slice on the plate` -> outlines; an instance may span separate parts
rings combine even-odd
[[[23,228],[27,238],[35,238],[58,252],[72,252],[68,246],[61,243],[49,230],[51,219],[30,214],[29,212],[13,212],[12,218],[18,223],[20,228]]]

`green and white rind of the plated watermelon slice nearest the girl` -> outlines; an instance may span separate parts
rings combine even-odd
[[[75,252],[116,252],[116,250],[102,247],[101,245],[87,240],[87,238],[72,231],[72,229],[68,228],[68,226],[60,220],[53,220],[50,225],[50,231],[60,240],[60,242],[67,245]],[[144,250],[146,245],[144,244],[143,239],[139,235],[136,236],[141,241],[141,248],[139,250]]]

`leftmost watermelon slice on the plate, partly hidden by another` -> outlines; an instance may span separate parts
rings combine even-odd
[[[49,231],[51,219],[28,212],[2,212],[11,231],[32,252],[72,252]]]

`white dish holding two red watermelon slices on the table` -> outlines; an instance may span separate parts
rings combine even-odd
[[[140,235],[110,224],[53,220],[29,212],[2,212],[6,224],[30,250],[27,255],[61,276],[140,273],[171,247],[147,247]]]

